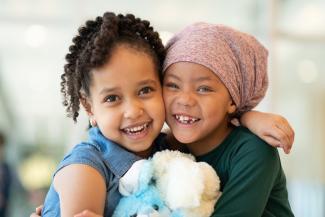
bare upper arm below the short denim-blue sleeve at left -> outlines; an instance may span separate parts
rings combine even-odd
[[[105,180],[94,168],[71,164],[54,177],[60,197],[62,217],[71,217],[85,209],[103,215],[106,197]]]

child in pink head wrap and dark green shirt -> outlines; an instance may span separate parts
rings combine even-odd
[[[196,23],[167,44],[163,94],[175,139],[221,179],[217,216],[293,216],[277,150],[229,120],[267,86],[268,51],[232,28]]]

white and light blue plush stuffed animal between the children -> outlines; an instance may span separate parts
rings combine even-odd
[[[221,195],[214,169],[179,151],[137,161],[120,179],[113,217],[209,217]]]

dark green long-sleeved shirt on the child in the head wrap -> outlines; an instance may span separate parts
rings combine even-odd
[[[209,163],[221,180],[222,196],[212,217],[294,216],[277,149],[248,129],[235,128],[197,160]]]

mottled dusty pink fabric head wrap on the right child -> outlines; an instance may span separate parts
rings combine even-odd
[[[232,28],[195,23],[167,43],[163,71],[177,62],[201,64],[228,89],[237,113],[255,107],[267,86],[268,51],[253,36]]]

